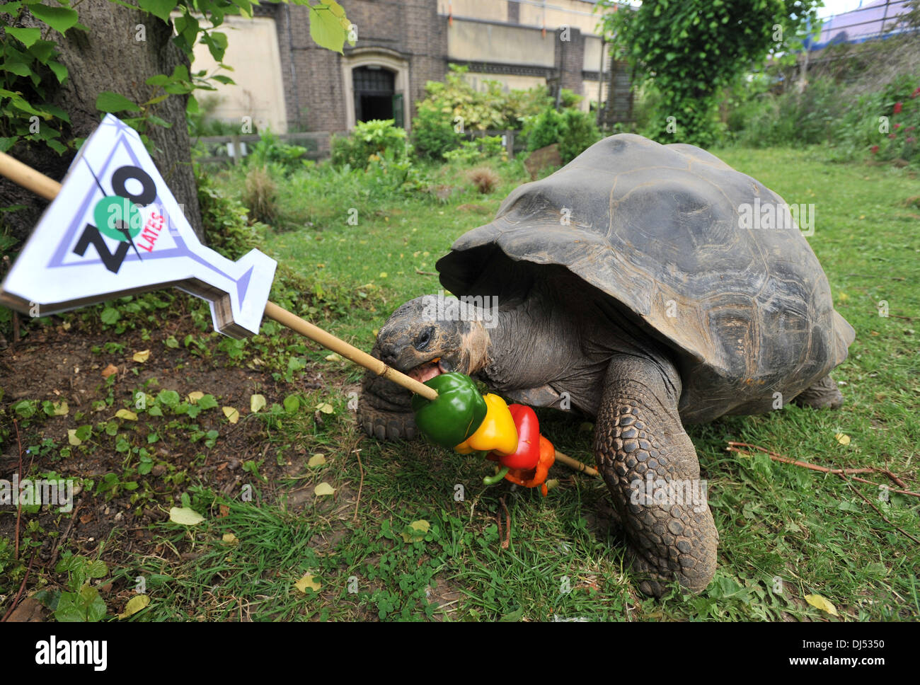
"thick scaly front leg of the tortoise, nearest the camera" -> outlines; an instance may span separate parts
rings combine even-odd
[[[719,533],[696,450],[677,413],[680,394],[669,360],[617,355],[607,370],[594,437],[639,590],[656,597],[674,578],[700,592],[716,571]]]

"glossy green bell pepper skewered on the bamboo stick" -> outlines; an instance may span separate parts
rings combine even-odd
[[[438,391],[434,400],[412,396],[415,424],[429,440],[453,448],[476,432],[486,417],[486,401],[469,376],[456,371],[425,382]]]

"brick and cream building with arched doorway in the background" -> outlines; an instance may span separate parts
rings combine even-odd
[[[255,19],[228,17],[234,33],[224,61],[234,66],[237,86],[220,90],[214,114],[253,116],[275,131],[348,131],[370,119],[408,129],[426,82],[443,80],[456,63],[467,66],[474,86],[485,79],[508,88],[561,83],[584,96],[584,108],[610,99],[612,120],[630,118],[628,79],[622,65],[611,68],[593,33],[599,16],[591,0],[339,1],[358,37],[343,55],[310,38],[305,6],[263,5]],[[206,50],[196,51],[196,68],[209,60]]]

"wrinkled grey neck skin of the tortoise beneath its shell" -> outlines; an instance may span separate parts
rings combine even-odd
[[[614,306],[593,302],[584,283],[535,282],[523,301],[502,307],[497,325],[476,322],[471,341],[486,344],[485,358],[470,375],[498,393],[532,405],[559,405],[596,416],[604,376],[615,354],[651,360],[661,368],[669,394],[680,396],[680,380],[664,349]],[[555,395],[555,399],[554,399]]]

